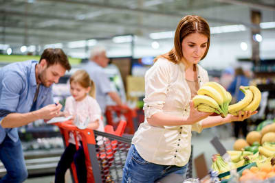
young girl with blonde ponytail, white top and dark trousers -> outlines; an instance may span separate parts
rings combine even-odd
[[[74,123],[83,127],[85,121],[89,120],[88,128],[104,131],[101,120],[101,110],[95,97],[94,82],[90,80],[88,73],[84,70],[76,71],[69,80],[71,97],[66,99],[63,114],[72,115]],[[87,169],[85,164],[85,154],[81,141],[81,136],[77,136],[79,149],[76,151],[74,134],[69,134],[69,145],[66,147],[61,160],[56,167],[55,182],[65,182],[65,172],[72,162],[76,165],[78,182],[87,182]]]

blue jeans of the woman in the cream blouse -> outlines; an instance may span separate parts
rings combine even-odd
[[[147,162],[137,153],[135,145],[131,145],[123,168],[122,183],[153,183],[170,173],[185,177],[187,167],[188,164],[184,167],[177,167],[175,165],[168,166]]]

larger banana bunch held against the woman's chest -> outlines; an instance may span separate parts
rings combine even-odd
[[[207,82],[197,91],[193,99],[195,108],[200,112],[215,112],[221,117],[228,114],[228,106],[232,99],[223,86],[217,82]]]

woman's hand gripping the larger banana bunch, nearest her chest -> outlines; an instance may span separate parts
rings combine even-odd
[[[197,122],[201,121],[202,119],[205,119],[205,118],[209,117],[211,114],[213,114],[212,112],[199,112],[195,108],[194,103],[192,101],[190,101],[189,105],[190,105],[190,114],[189,114],[187,121],[190,124],[197,123]]]

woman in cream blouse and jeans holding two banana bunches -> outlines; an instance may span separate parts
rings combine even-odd
[[[169,173],[185,176],[191,151],[191,131],[201,132],[256,112],[224,119],[199,112],[192,103],[197,90],[208,82],[200,60],[210,45],[210,28],[200,16],[185,16],[175,31],[174,47],[155,58],[145,74],[144,123],[132,138],[122,182],[155,182]]]

